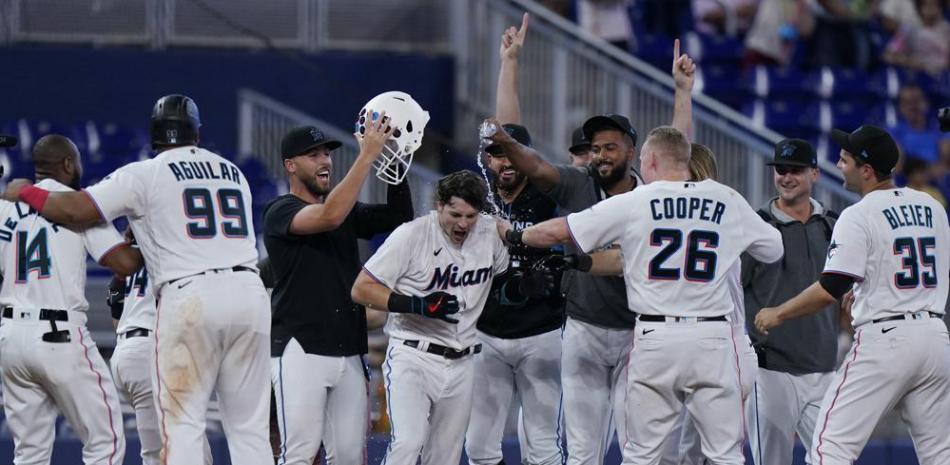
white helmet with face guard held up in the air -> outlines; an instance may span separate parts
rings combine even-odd
[[[367,114],[370,109],[371,115]],[[363,105],[356,120],[356,133],[362,136],[366,122],[379,118],[383,112],[386,112],[393,130],[383,153],[376,159],[376,177],[387,184],[399,184],[409,173],[412,154],[422,145],[429,112],[405,92],[383,92]]]

